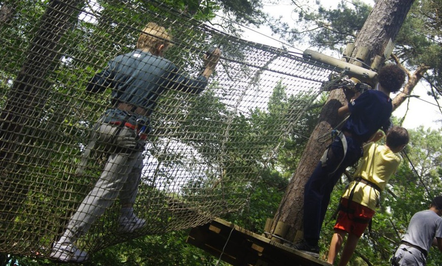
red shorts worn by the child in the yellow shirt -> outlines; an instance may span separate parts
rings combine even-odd
[[[334,229],[340,229],[349,234],[361,237],[367,228],[368,222],[373,217],[375,211],[359,203],[350,202],[347,198],[341,198],[341,210],[338,213]],[[350,211],[348,211],[350,210]]]

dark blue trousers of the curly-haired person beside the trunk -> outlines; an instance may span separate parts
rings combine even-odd
[[[304,240],[312,246],[318,245],[333,187],[345,169],[362,156],[362,144],[350,137],[345,139],[348,147],[343,161],[342,142],[336,137],[329,147],[326,165],[320,161],[304,187]]]

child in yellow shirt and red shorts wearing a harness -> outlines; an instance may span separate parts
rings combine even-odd
[[[338,218],[334,226],[327,262],[333,264],[343,239],[349,234],[339,265],[346,265],[365,228],[373,217],[379,196],[401,162],[399,153],[408,144],[408,131],[393,126],[387,132],[386,144],[370,142],[354,175],[354,180],[342,195]]]

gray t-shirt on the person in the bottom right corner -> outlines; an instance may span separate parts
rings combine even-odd
[[[434,238],[442,238],[442,218],[430,210],[413,215],[403,241],[430,251]]]

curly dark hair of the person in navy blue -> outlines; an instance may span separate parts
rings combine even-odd
[[[398,92],[405,82],[405,72],[396,64],[387,64],[379,71],[377,79],[384,89]]]

